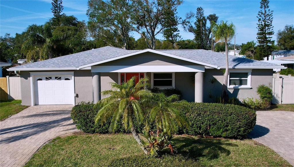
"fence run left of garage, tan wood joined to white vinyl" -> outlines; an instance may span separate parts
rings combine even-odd
[[[11,76],[0,78],[1,100],[21,100],[20,77]]]

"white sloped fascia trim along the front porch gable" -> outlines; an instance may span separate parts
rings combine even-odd
[[[215,66],[215,65],[212,65],[212,64],[207,64],[207,63],[199,62],[199,61],[196,61],[196,60],[187,59],[187,58],[184,58],[184,57],[180,57],[180,56],[176,56],[176,55],[173,55],[173,54],[160,52],[160,51],[157,51],[157,50],[145,49],[145,50],[141,50],[141,51],[138,51],[138,52],[126,54],[126,55],[123,55],[123,56],[118,56],[118,57],[114,57],[114,58],[111,58],[111,59],[103,60],[103,61],[100,61],[100,62],[86,64],[86,65],[77,67],[77,69],[82,69],[82,68],[85,68],[85,67],[91,67],[91,66],[94,66],[94,65],[97,65],[97,64],[111,62],[113,60],[122,59],[122,58],[125,58],[125,57],[129,57],[129,56],[133,56],[133,55],[141,54],[141,53],[146,53],[146,52],[161,54],[161,55],[164,55],[164,56],[168,56],[168,57],[172,57],[172,58],[176,58],[176,59],[181,59],[181,60],[184,60],[184,61],[187,61],[187,62],[193,62],[193,63],[196,63],[196,64],[200,64],[200,65],[204,65],[204,66],[208,66],[208,67],[212,67],[212,68],[218,68],[218,66]]]

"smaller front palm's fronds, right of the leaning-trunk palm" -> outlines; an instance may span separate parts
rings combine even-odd
[[[155,104],[149,113],[149,121],[155,122],[157,135],[163,133],[171,136],[174,134],[177,125],[188,127],[186,117],[175,108],[178,99],[179,96],[175,94],[166,96],[164,93],[156,93],[153,96]]]

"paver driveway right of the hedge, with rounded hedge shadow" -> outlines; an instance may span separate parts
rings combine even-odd
[[[294,112],[256,111],[256,125],[248,137],[270,147],[294,166]]]

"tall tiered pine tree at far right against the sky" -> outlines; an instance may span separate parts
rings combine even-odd
[[[260,11],[258,11],[258,33],[257,33],[257,41],[258,41],[258,57],[262,59],[263,57],[268,57],[272,53],[273,48],[272,44],[275,42],[274,40],[270,40],[274,35],[273,32],[273,11],[271,11],[268,6],[268,0],[260,1]]]

